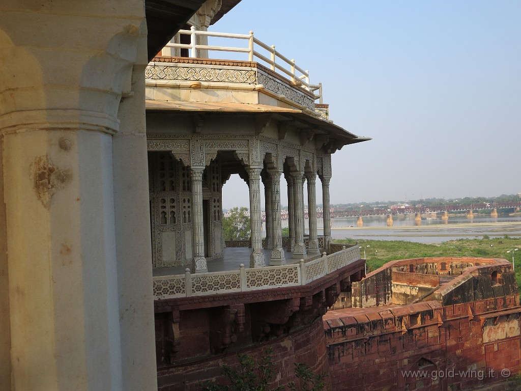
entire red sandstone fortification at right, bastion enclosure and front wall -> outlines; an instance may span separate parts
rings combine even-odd
[[[392,261],[352,291],[358,308],[324,316],[333,391],[521,389],[504,383],[521,369],[521,307],[507,261]]]

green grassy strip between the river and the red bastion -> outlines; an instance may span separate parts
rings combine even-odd
[[[397,259],[423,258],[428,256],[480,256],[483,258],[503,258],[512,262],[512,253],[508,250],[519,248],[514,252],[515,274],[517,285],[521,286],[521,239],[486,238],[458,239],[443,243],[423,244],[403,240],[333,240],[335,243],[355,244],[361,247],[362,258],[364,246],[367,257],[367,273],[377,269],[384,263]]]

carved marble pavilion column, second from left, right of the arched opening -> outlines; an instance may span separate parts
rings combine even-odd
[[[262,221],[261,221],[261,168],[247,169],[250,185],[250,223],[252,228],[252,254],[250,267],[266,266],[262,252]]]

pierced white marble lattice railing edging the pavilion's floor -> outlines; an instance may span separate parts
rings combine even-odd
[[[160,276],[153,278],[155,299],[204,296],[306,285],[360,259],[360,248],[353,246],[322,256],[314,261],[282,266],[246,268],[213,273]]]

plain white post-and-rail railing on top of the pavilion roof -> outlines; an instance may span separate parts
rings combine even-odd
[[[255,38],[253,31],[250,31],[249,34],[220,33],[196,30],[195,27],[192,26],[190,30],[179,30],[179,34],[190,35],[190,43],[168,43],[165,47],[188,49],[189,57],[191,58],[196,58],[197,51],[199,50],[247,53],[249,61],[261,60],[268,64],[272,71],[278,70],[282,72],[282,74],[287,75],[291,79],[293,84],[312,92],[315,95],[315,99],[319,99],[319,103],[322,103],[322,83],[310,84],[308,70],[304,70],[296,65],[294,59],[288,59],[275,50],[275,45],[268,46],[261,40]],[[201,45],[197,44],[197,36],[247,40],[248,45],[247,47]],[[265,50],[268,53],[263,54],[261,50]],[[318,91],[318,93],[316,93],[316,91]]]

